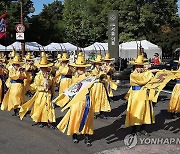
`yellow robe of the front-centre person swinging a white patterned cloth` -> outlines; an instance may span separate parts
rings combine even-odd
[[[86,78],[86,75],[80,75],[79,77],[77,77],[77,76],[73,77],[72,80],[73,80],[73,83],[77,83],[85,78]],[[91,98],[90,98],[90,100],[91,100]],[[83,95],[81,95],[81,97],[78,101],[75,101],[75,102],[73,102],[73,101],[74,101],[73,99],[70,101],[72,103],[72,105],[70,106],[68,112],[63,117],[61,122],[58,124],[57,128],[61,132],[65,132],[66,128],[68,127],[67,135],[72,135],[74,133],[76,133],[76,134],[93,134],[94,111],[93,111],[92,104],[89,108],[88,117],[87,117],[86,123],[83,127],[83,130],[81,132],[79,132],[80,123],[81,123],[84,109],[86,106],[86,94],[84,93]]]

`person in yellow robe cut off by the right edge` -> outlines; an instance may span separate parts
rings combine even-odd
[[[180,65],[180,58],[177,61]],[[176,85],[173,88],[173,92],[171,95],[168,111],[171,113],[172,117],[176,117],[176,113],[180,113],[180,66],[177,71],[174,71],[176,74]]]

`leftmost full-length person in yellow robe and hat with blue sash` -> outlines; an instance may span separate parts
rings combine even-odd
[[[12,63],[13,69],[9,71],[9,78],[10,78],[10,87],[7,93],[4,96],[1,110],[8,110],[11,111],[14,109],[13,116],[17,116],[19,112],[20,106],[25,102],[25,90],[23,80],[26,78],[26,72],[21,65],[20,56],[17,54],[10,61]]]

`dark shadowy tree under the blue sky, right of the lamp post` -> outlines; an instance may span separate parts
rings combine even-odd
[[[64,42],[63,8],[60,1],[54,1],[52,4],[44,5],[39,15],[29,18],[32,24],[27,31],[27,40],[43,45],[51,42]]]

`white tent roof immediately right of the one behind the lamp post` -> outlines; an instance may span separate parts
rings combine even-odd
[[[44,47],[45,51],[75,51],[78,47],[71,43],[50,43]]]

